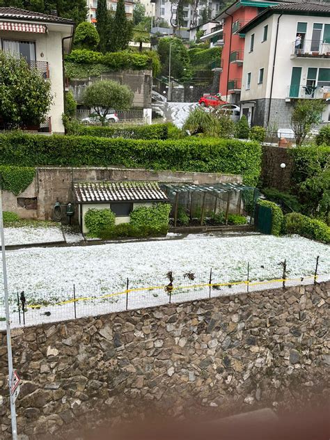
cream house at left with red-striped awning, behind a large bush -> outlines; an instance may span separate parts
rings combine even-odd
[[[71,48],[74,22],[70,19],[17,8],[0,8],[0,43],[3,52],[25,58],[52,85],[54,102],[45,123],[36,131],[63,133],[65,81],[63,53]]]

